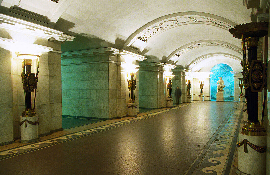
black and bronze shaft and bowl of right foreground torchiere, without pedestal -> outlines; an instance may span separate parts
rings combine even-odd
[[[268,22],[256,22],[240,24],[231,28],[230,33],[242,40],[243,51],[243,84],[247,98],[248,123],[244,124],[242,134],[245,135],[266,135],[264,126],[258,116],[258,92],[265,88],[266,67],[262,60],[257,59],[257,48],[259,38],[268,34]],[[246,48],[248,58],[246,58]]]

